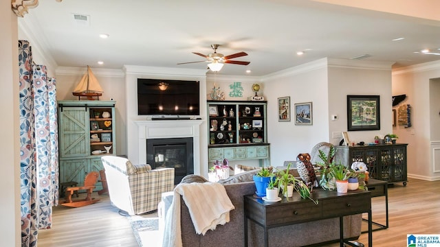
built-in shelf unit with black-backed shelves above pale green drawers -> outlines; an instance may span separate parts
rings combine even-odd
[[[258,159],[268,165],[267,102],[208,100],[207,104],[209,162]]]

